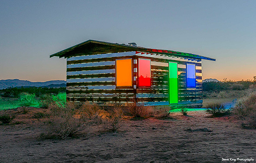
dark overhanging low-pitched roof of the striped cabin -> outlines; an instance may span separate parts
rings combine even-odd
[[[81,48],[82,46],[85,46],[86,44],[89,44],[89,43],[96,44],[96,45],[98,44],[98,45],[105,45],[105,46],[116,47],[117,49],[115,49],[115,52],[118,51],[119,49],[122,49],[121,52],[124,52],[125,50],[127,50],[127,52],[139,51],[139,52],[149,52],[149,53],[156,53],[156,54],[164,54],[164,55],[170,55],[170,56],[184,57],[184,58],[189,58],[189,59],[206,59],[206,60],[210,60],[210,61],[216,61],[216,59],[213,59],[213,58],[210,58],[210,57],[206,57],[206,56],[202,56],[202,55],[197,55],[197,54],[191,54],[191,53],[187,53],[187,52],[177,52],[177,51],[164,50],[164,49],[149,49],[149,48],[144,48],[144,47],[140,47],[140,46],[134,47],[134,46],[126,45],[126,44],[97,41],[97,40],[92,40],[92,39],[89,39],[89,40],[87,40],[85,42],[81,42],[79,44],[76,44],[76,45],[71,46],[71,47],[69,47],[67,49],[64,49],[62,51],[56,52],[56,53],[50,55],[50,58],[53,57],[53,56],[58,56],[59,58],[62,58],[62,57],[66,58],[66,57],[68,57],[68,55],[66,55],[67,53],[72,53],[73,50]]]

